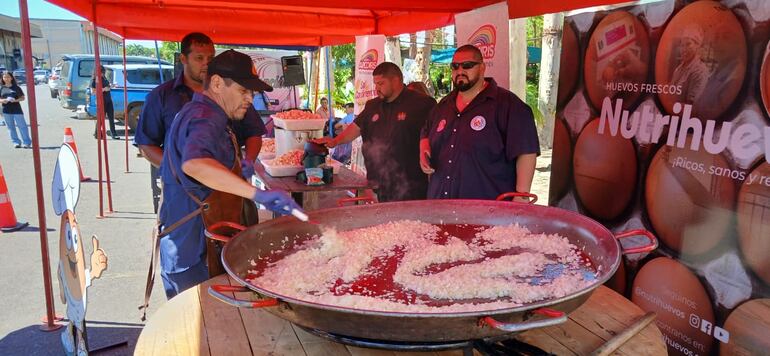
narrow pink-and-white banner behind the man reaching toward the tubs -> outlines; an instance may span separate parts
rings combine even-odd
[[[385,36],[356,36],[356,68],[354,112],[356,115],[364,109],[369,99],[377,97],[374,90],[372,71],[385,61]],[[400,64],[400,63],[396,63]]]

